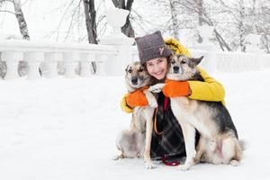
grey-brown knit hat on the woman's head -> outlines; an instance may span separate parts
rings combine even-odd
[[[135,41],[139,50],[139,61],[142,64],[152,58],[166,58],[171,55],[160,31],[137,37]]]

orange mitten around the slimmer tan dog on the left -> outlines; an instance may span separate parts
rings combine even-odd
[[[148,105],[148,99],[143,93],[145,89],[148,89],[148,86],[141,87],[127,96],[126,101],[131,108]]]

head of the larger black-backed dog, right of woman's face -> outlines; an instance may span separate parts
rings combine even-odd
[[[188,58],[182,54],[170,56],[170,67],[166,78],[176,81],[193,79],[198,73],[196,66],[202,61],[202,58]]]

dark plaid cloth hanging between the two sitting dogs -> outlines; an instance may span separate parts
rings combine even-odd
[[[153,130],[151,141],[151,157],[185,157],[184,137],[181,126],[175,119],[170,107],[170,100],[164,94],[158,94],[156,130]],[[154,129],[155,129],[155,117]],[[199,133],[196,133],[196,143]]]

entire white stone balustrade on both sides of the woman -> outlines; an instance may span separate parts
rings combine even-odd
[[[95,62],[96,75],[119,76],[130,61],[139,60],[138,50],[131,46],[134,40],[121,33],[121,26],[125,23],[128,12],[112,9],[107,16],[113,31],[104,37],[99,45],[79,43],[59,43],[49,41],[30,40],[0,40],[1,60],[6,63],[4,79],[18,78],[19,61],[26,61],[29,67],[28,79],[40,78],[40,64],[46,65],[46,72],[42,76],[58,76],[58,63],[64,67],[64,76],[75,77],[76,67],[80,64],[78,76],[91,76],[91,62]],[[121,19],[121,17],[123,19]],[[115,22],[117,21],[118,22]],[[205,28],[204,28],[205,29]],[[205,31],[203,29],[203,31]],[[209,31],[207,31],[209,36]],[[205,35],[205,36],[206,36]],[[202,33],[203,36],[203,33]],[[202,67],[208,72],[241,72],[270,68],[270,55],[220,52],[207,41],[202,42],[196,49],[190,49],[193,57],[204,56]]]

